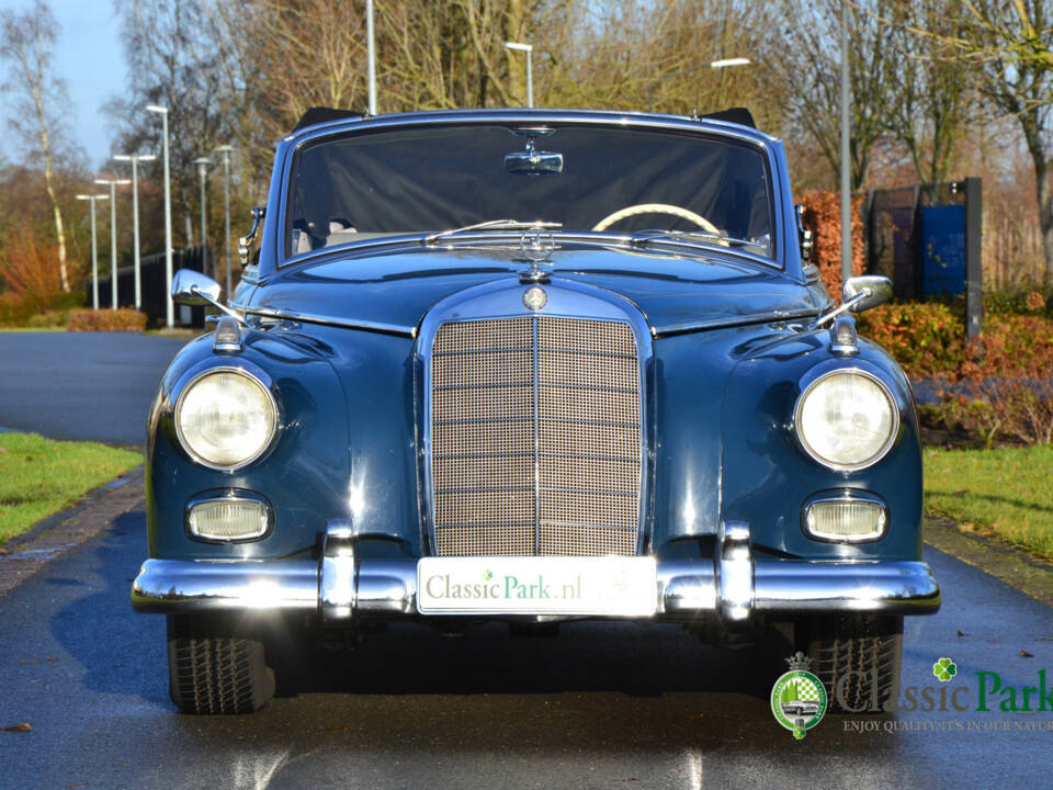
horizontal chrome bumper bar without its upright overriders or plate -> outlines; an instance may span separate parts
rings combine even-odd
[[[940,587],[924,562],[766,560],[751,566],[750,611],[898,616],[940,609]],[[657,567],[655,619],[718,614],[718,569],[713,563],[666,561]],[[354,591],[347,624],[418,617],[416,560],[360,560],[344,564],[341,574],[352,578],[339,584]],[[140,612],[318,611],[319,577],[319,564],[312,560],[147,560],[132,587],[132,606]]]

